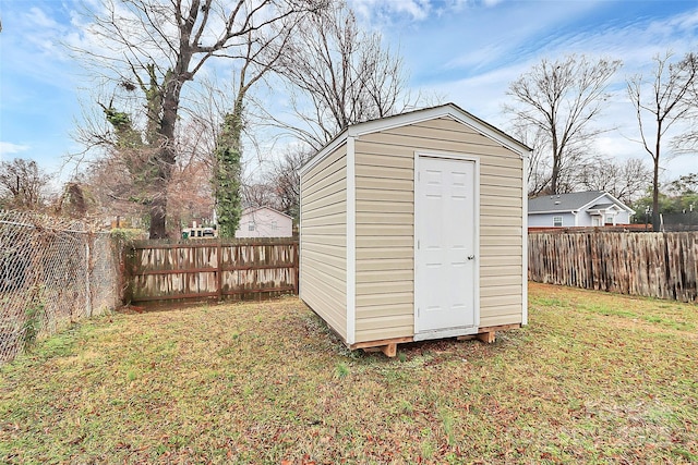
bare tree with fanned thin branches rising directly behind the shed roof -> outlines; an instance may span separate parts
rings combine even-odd
[[[349,124],[413,105],[401,58],[382,44],[378,33],[360,29],[344,1],[311,15],[276,69],[290,85],[294,121],[267,117],[314,149]]]

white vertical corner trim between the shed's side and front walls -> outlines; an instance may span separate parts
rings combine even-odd
[[[354,138],[347,137],[347,343],[357,339],[357,178]]]

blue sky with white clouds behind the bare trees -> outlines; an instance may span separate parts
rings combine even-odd
[[[94,1],[94,0],[89,0]],[[438,96],[507,131],[509,83],[541,59],[569,53],[623,61],[597,122],[612,127],[599,155],[651,160],[636,142],[626,79],[649,76],[652,58],[698,51],[698,0],[349,0],[360,23],[398,51],[414,94]],[[82,147],[71,137],[91,81],[61,42],[80,36],[79,0],[1,0],[0,159],[58,172]],[[274,90],[266,94],[275,98]],[[698,172],[698,156],[665,159],[663,178]],[[69,176],[67,169],[62,179]]]

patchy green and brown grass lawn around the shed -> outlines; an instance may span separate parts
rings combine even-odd
[[[96,318],[0,368],[0,462],[698,462],[698,306],[529,292],[394,359],[291,297]]]

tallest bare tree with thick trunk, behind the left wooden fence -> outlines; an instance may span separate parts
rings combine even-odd
[[[177,161],[176,126],[182,90],[212,58],[244,57],[250,35],[312,8],[312,0],[103,0],[91,13],[99,50],[79,50],[105,77],[141,89],[146,126],[156,138],[151,184],[165,193]],[[151,133],[151,131],[147,131]],[[166,236],[167,196],[149,204],[151,237]]]

